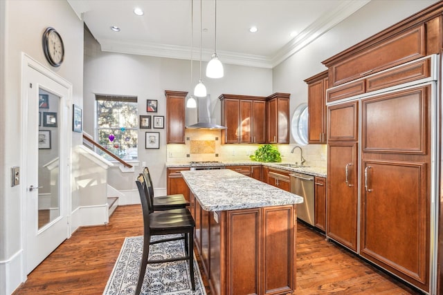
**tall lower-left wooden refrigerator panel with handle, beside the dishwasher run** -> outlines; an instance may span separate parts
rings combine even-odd
[[[357,144],[328,144],[327,152],[326,234],[356,251]]]

